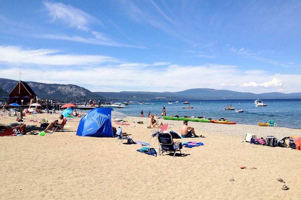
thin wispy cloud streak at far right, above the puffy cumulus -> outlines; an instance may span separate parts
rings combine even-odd
[[[279,65],[282,67],[291,67],[294,66],[295,64],[292,62],[283,62],[283,61],[275,61],[275,60],[270,60],[270,59],[266,59],[266,58],[262,58],[261,56],[259,56],[262,53],[266,53],[267,51],[261,50],[259,52],[250,52],[250,50],[245,49],[244,47],[240,48],[240,49],[236,49],[234,47],[232,47],[230,49],[231,52],[236,53],[237,55],[240,55],[244,58],[251,58],[254,60],[258,60],[258,61],[262,61],[262,62],[266,62],[266,63],[271,63],[271,64],[275,64],[275,65]]]

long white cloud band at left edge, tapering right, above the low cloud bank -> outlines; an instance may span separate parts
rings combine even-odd
[[[19,46],[0,46],[0,63],[36,65],[91,65],[104,62],[119,62],[104,55],[58,54],[54,49],[22,49]]]

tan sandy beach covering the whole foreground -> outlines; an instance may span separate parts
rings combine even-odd
[[[45,117],[57,115],[24,118]],[[38,124],[26,120],[25,124]],[[181,124],[160,121],[169,124],[168,131],[178,132]],[[15,118],[0,117],[0,124],[13,122]],[[118,145],[116,138],[76,136],[78,123],[79,119],[68,121],[65,132],[45,136],[0,137],[0,199],[298,199],[301,195],[301,151],[240,142],[246,132],[282,138],[300,136],[301,130],[189,122],[206,138],[181,141],[204,145],[183,148],[176,157],[154,157],[137,152],[141,145]],[[135,141],[149,142],[151,130],[145,126],[131,123],[122,128]],[[158,148],[154,142],[152,147]],[[253,166],[257,169],[249,169]],[[281,190],[283,185],[290,190]]]

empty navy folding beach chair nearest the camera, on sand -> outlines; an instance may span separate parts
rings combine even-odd
[[[182,142],[176,141],[174,142],[172,136],[169,133],[158,133],[158,142],[159,142],[159,156],[162,151],[173,151],[174,154],[172,157],[175,157],[175,153],[179,150],[181,153]]]

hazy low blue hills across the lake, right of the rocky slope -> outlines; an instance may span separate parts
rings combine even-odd
[[[206,100],[206,99],[298,99],[301,92],[284,94],[270,92],[254,94],[250,92],[236,92],[231,90],[215,90],[209,88],[195,88],[179,92],[95,92],[107,100]]]

